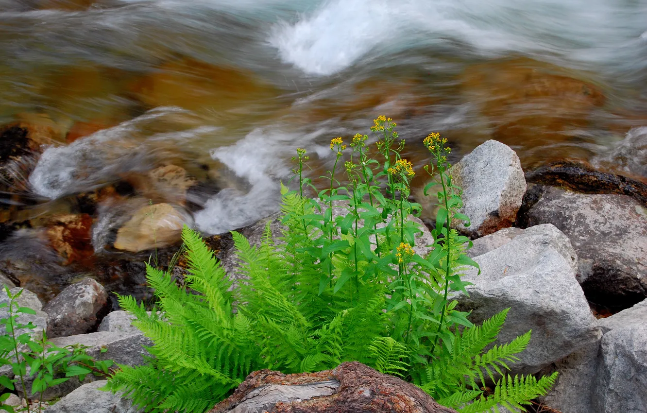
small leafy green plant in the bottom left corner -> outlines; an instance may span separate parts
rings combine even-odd
[[[0,304],[0,308],[6,308],[8,314],[8,317],[0,319],[0,324],[6,329],[6,334],[0,335],[0,366],[11,366],[15,375],[14,379],[9,379],[6,375],[0,376],[0,385],[12,391],[20,388],[27,399],[27,407],[15,410],[14,407],[5,405],[4,402],[10,396],[6,392],[0,396],[0,410],[10,413],[39,413],[43,410],[43,392],[47,388],[60,385],[71,377],[78,377],[83,381],[88,374],[100,377],[114,374],[110,368],[114,364],[112,360],[95,361],[85,353],[83,346],[53,346],[47,340],[45,331],[42,331],[38,340],[34,340],[29,332],[18,334],[19,330],[36,328],[32,322],[25,324],[17,320],[21,314],[36,314],[33,309],[18,306],[17,299],[23,291],[21,289],[14,294],[5,287],[9,302]],[[28,377],[33,377],[30,392],[26,384]],[[31,407],[29,394],[38,394],[38,405],[35,408]]]

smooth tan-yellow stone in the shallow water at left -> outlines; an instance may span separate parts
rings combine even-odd
[[[187,222],[190,217],[170,204],[146,205],[117,231],[114,247],[129,252],[167,247],[181,240]]]

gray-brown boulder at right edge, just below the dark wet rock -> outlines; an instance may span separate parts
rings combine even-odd
[[[552,223],[569,237],[591,302],[626,307],[647,297],[647,208],[635,199],[547,187],[527,222]]]

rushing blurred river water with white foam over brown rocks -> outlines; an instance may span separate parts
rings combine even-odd
[[[49,139],[3,197],[29,224],[0,260],[47,262],[39,222],[124,179],[136,196],[93,211],[89,254],[129,203],[175,202],[205,234],[247,225],[296,148],[316,177],[331,138],[382,114],[419,172],[439,131],[455,157],[497,139],[526,169],[644,177],[646,69],[647,0],[0,0],[0,125]],[[197,205],[142,189],[169,165],[206,183]]]

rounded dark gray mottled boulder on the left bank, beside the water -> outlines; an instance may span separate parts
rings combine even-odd
[[[47,336],[65,337],[83,334],[96,328],[98,317],[108,311],[108,294],[92,278],[69,285],[45,307]]]

